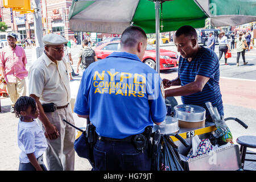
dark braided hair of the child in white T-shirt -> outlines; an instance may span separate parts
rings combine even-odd
[[[31,106],[31,113],[36,111],[36,101],[32,97],[21,96],[18,98],[14,105],[14,113],[16,118],[22,119],[21,111],[26,111],[28,107]]]

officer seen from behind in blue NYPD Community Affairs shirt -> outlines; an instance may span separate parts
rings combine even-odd
[[[96,127],[93,170],[150,170],[148,148],[139,144],[167,111],[162,79],[141,61],[146,46],[142,28],[128,27],[121,52],[90,64],[82,75],[74,112]]]

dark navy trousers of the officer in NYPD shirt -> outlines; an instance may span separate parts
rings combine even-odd
[[[148,150],[138,151],[132,143],[97,140],[93,171],[150,171]]]

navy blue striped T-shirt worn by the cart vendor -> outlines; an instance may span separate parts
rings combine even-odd
[[[201,47],[201,46],[200,46]],[[191,62],[180,56],[178,74],[181,86],[187,85],[193,81],[197,75],[210,78],[205,84],[202,92],[197,92],[189,96],[181,96],[183,104],[192,104],[204,107],[206,114],[209,110],[205,102],[212,102],[213,107],[217,107],[220,115],[224,115],[222,98],[220,93],[220,64],[214,51],[201,47],[196,57]]]

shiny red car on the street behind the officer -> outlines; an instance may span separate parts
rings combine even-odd
[[[104,59],[112,52],[120,51],[120,41],[113,41],[102,44],[94,48],[98,59]],[[160,49],[160,70],[171,69],[177,67],[178,55],[176,52]],[[142,59],[143,63],[148,64],[151,68],[155,69],[155,47],[147,44],[147,48]]]

